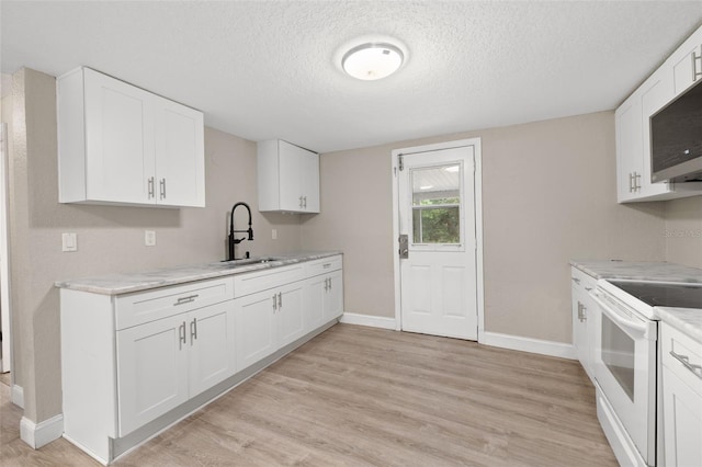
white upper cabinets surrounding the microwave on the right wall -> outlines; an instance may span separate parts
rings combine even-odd
[[[699,29],[616,109],[616,193],[620,203],[663,201],[702,194],[702,183],[650,181],[650,117],[692,84],[692,55],[700,49]],[[692,46],[697,44],[697,46]],[[687,58],[686,58],[687,57]],[[694,58],[702,73],[702,62]],[[687,68],[686,68],[687,67]],[[699,75],[697,79],[700,79]]]

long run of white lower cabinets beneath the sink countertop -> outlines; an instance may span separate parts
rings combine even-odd
[[[207,403],[341,316],[341,265],[337,255],[112,296],[63,288],[64,436],[106,464]]]

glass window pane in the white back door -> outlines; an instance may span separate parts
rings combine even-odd
[[[461,166],[414,169],[412,241],[461,243]]]

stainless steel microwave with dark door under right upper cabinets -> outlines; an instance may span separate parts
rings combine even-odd
[[[702,181],[702,79],[650,117],[653,182]]]

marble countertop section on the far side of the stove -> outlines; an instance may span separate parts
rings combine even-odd
[[[656,261],[570,261],[570,265],[596,278],[702,283],[702,270]]]

